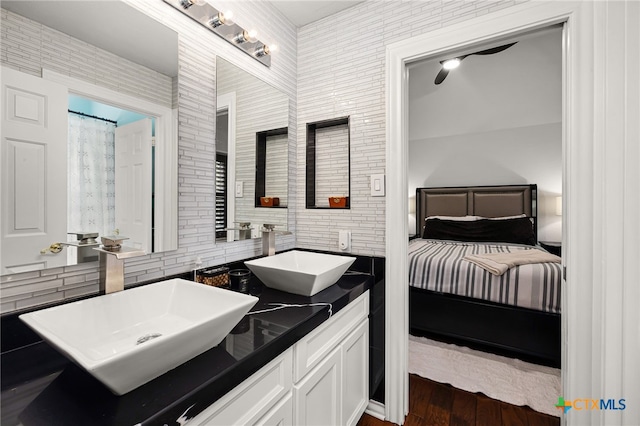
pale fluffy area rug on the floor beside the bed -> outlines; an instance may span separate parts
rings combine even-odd
[[[409,372],[455,388],[559,416],[560,370],[409,336]]]

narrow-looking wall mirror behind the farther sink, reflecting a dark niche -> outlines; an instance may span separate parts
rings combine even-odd
[[[260,236],[287,228],[289,97],[216,60],[216,237]]]

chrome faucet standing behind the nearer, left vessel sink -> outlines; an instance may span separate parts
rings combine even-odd
[[[127,237],[101,237],[102,246],[98,250],[100,259],[100,294],[115,293],[124,290],[124,259],[143,256],[143,250],[123,247],[122,241]]]

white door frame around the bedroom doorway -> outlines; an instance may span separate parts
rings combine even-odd
[[[576,64],[579,59],[589,59],[587,53],[579,56],[574,49],[574,41],[582,36],[581,29],[588,26],[588,13],[583,13],[580,3],[573,2],[529,2],[513,6],[470,21],[451,25],[431,31],[417,37],[389,44],[386,48],[386,165],[387,165],[387,197],[386,197],[386,318],[385,318],[385,418],[391,422],[402,424],[409,410],[408,380],[408,183],[406,170],[408,165],[408,74],[407,64],[428,58],[438,53],[460,49],[509,35],[528,32],[556,24],[564,24],[563,33],[563,218],[565,223],[573,223],[576,229],[582,220],[571,208],[573,200],[568,192],[570,183],[580,184],[580,170],[571,165],[578,161],[578,144],[575,135],[579,134],[580,123],[575,109],[579,109],[580,99],[589,99],[593,88],[582,84],[585,92],[578,93],[576,88],[581,81],[577,74]],[[586,87],[585,87],[586,86]],[[582,104],[586,108],[586,104]],[[583,111],[584,112],[584,111]],[[586,113],[586,112],[584,112]],[[587,224],[587,229],[591,224]],[[579,228],[578,228],[579,229]],[[572,234],[569,226],[563,226],[562,240],[568,250],[563,247],[563,266],[575,264],[578,250],[576,234]],[[581,256],[582,257],[582,256]],[[575,305],[583,300],[573,297],[568,300],[567,287],[575,282],[577,275],[569,275],[562,290],[562,312],[575,309]],[[575,353],[578,345],[567,342],[567,329],[576,328],[577,324],[569,322],[569,315],[562,316],[562,381],[565,393],[576,389],[577,380],[571,364],[567,363],[567,350]],[[565,419],[566,421],[566,419]]]

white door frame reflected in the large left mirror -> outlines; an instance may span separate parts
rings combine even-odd
[[[178,112],[106,87],[48,69],[42,78],[63,84],[69,93],[153,116],[155,136],[154,253],[178,249]]]

